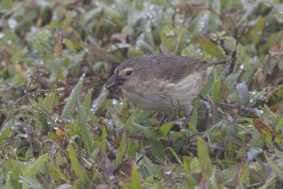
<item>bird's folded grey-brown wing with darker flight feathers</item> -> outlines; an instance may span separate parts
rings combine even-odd
[[[207,62],[192,57],[164,56],[166,57],[156,57],[154,59],[154,61],[158,62],[158,64],[154,64],[158,65],[158,68],[154,70],[158,70],[157,79],[168,80],[171,83],[178,83],[196,70],[201,64]]]

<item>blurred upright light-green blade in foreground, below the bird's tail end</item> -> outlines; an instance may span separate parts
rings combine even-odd
[[[202,138],[198,138],[198,159],[200,161],[201,173],[211,176],[213,172],[213,166],[209,158],[205,141]]]

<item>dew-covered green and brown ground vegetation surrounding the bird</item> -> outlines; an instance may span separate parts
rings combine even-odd
[[[0,1],[1,188],[282,188],[282,0]],[[104,83],[152,53],[213,61],[187,126]]]

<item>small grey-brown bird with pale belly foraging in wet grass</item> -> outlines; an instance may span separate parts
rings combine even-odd
[[[203,88],[215,65],[232,59],[208,62],[187,56],[164,53],[131,58],[115,69],[106,82],[106,89],[120,87],[127,100],[136,108],[162,112],[158,127],[175,108],[186,114],[187,124],[193,106],[191,102]]]

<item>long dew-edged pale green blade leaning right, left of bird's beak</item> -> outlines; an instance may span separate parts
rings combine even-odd
[[[76,102],[76,94],[80,93],[80,90],[83,86],[83,81],[85,79],[85,73],[82,75],[82,77],[80,77],[79,82],[76,84],[76,86],[74,87],[74,89],[72,90],[72,93],[69,95],[69,98],[67,100],[67,103],[62,111],[61,117],[65,118],[70,111],[72,111],[72,107],[74,106],[75,102]]]

